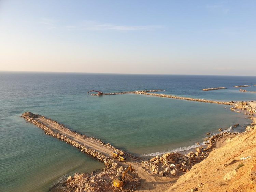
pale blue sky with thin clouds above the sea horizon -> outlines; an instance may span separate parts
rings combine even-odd
[[[256,1],[0,0],[0,71],[252,75]]]

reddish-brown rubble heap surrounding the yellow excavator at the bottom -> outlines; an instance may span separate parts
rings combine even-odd
[[[75,174],[74,177],[69,177],[67,181],[67,186],[73,187],[76,191],[134,191],[136,190],[141,182],[141,179],[134,172],[127,173],[125,180],[128,181],[126,186],[121,188],[116,188],[113,186],[113,180],[119,178],[122,175],[124,167],[120,167],[118,164],[113,166],[111,169],[93,173],[93,174]]]

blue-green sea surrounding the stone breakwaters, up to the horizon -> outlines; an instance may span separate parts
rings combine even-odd
[[[145,158],[183,151],[203,142],[206,132],[244,131],[251,120],[229,106],[148,95],[91,96],[162,89],[163,94],[216,101],[255,101],[255,76],[127,75],[92,73],[0,72],[0,191],[48,191],[75,173],[104,164],[27,123],[26,111],[102,139]],[[202,91],[203,88],[227,89]],[[243,126],[243,127],[242,127]]]

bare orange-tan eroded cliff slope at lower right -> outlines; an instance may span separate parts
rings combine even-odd
[[[247,108],[256,113],[255,103]],[[246,130],[226,137],[223,146],[194,165],[169,191],[256,191],[256,117]]]

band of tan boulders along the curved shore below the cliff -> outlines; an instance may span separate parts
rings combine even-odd
[[[239,110],[247,110],[249,113],[246,115],[252,115],[256,113],[256,107],[247,105],[247,103],[241,103],[235,107],[231,107],[231,110],[240,112]],[[234,125],[237,127],[239,124]],[[251,131],[253,129],[254,123],[247,126],[243,133]],[[223,131],[223,129],[219,129]],[[210,133],[206,133],[210,135]],[[159,175],[162,177],[170,177],[175,175],[181,175],[182,172],[189,172],[189,170],[197,163],[200,163],[202,160],[207,158],[209,153],[216,147],[217,142],[224,137],[231,135],[241,134],[239,132],[221,132],[219,134],[207,137],[204,139],[207,145],[206,148],[197,147],[196,152],[189,152],[187,154],[182,154],[179,152],[165,153],[162,156],[157,155],[148,161],[142,161],[141,165],[145,168],[146,171],[151,172],[152,174]],[[198,143],[199,144],[199,143]]]

